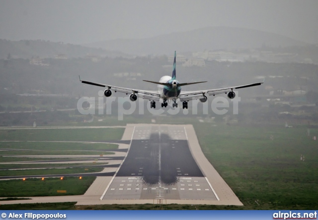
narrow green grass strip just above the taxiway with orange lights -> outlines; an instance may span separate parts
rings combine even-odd
[[[0,170],[0,176],[28,176],[28,175],[51,175],[51,174],[72,174],[100,172],[103,167],[74,167],[74,168],[48,168],[48,169],[19,169],[19,170]]]

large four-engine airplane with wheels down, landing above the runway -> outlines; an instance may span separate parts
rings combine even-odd
[[[241,89],[241,88],[246,88],[246,87],[251,87],[251,86],[258,86],[258,85],[261,85],[262,83],[264,83],[264,81],[263,81],[263,82],[258,82],[258,83],[252,83],[252,84],[247,84],[247,85],[242,85],[242,86],[233,86],[233,87],[222,88],[222,89],[181,92],[181,86],[192,85],[192,84],[197,84],[197,83],[204,83],[207,81],[191,82],[191,83],[179,83],[175,78],[175,63],[176,63],[176,52],[174,52],[173,71],[172,71],[171,77],[170,76],[162,76],[160,78],[159,82],[143,80],[145,82],[158,84],[158,91],[129,89],[129,88],[123,88],[123,87],[117,87],[117,86],[111,86],[111,85],[105,85],[105,84],[100,84],[100,83],[95,83],[95,82],[84,81],[84,80],[80,80],[80,78],[79,78],[79,81],[82,83],[85,83],[85,84],[89,84],[89,85],[107,87],[107,89],[104,91],[104,95],[106,97],[111,96],[111,94],[112,94],[111,89],[112,89],[115,92],[126,93],[126,95],[131,94],[129,96],[129,98],[133,102],[137,100],[137,97],[140,97],[143,99],[148,99],[151,101],[150,108],[156,108],[156,101],[160,101],[160,99],[163,101],[161,103],[162,108],[168,106],[168,103],[167,103],[168,100],[173,101],[172,107],[175,108],[175,107],[178,107],[177,101],[179,99],[182,102],[183,109],[188,109],[188,101],[193,100],[193,99],[199,99],[202,103],[205,103],[208,100],[206,94],[208,94],[209,96],[211,96],[211,95],[215,96],[216,94],[225,93],[225,94],[228,94],[228,97],[230,99],[233,99],[233,98],[235,98],[235,92],[233,91],[233,89]]]

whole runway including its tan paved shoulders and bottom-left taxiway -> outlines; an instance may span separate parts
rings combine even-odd
[[[1,204],[54,201],[77,205],[243,205],[205,158],[192,125],[127,124],[119,143],[120,151],[99,159],[109,162],[103,171],[84,174],[96,179],[83,195],[28,197],[31,200]],[[82,174],[74,174],[78,175]]]

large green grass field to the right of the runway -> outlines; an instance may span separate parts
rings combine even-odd
[[[311,138],[318,129],[307,137],[306,127],[194,126],[205,156],[245,209],[318,209],[318,142]]]

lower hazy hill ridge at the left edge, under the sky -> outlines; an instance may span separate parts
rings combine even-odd
[[[86,55],[101,56],[127,56],[119,52],[105,51],[103,49],[87,48],[80,45],[54,43],[43,40],[8,41],[0,39],[0,59],[41,57],[49,58],[57,55],[66,55],[68,58],[84,57]]]

